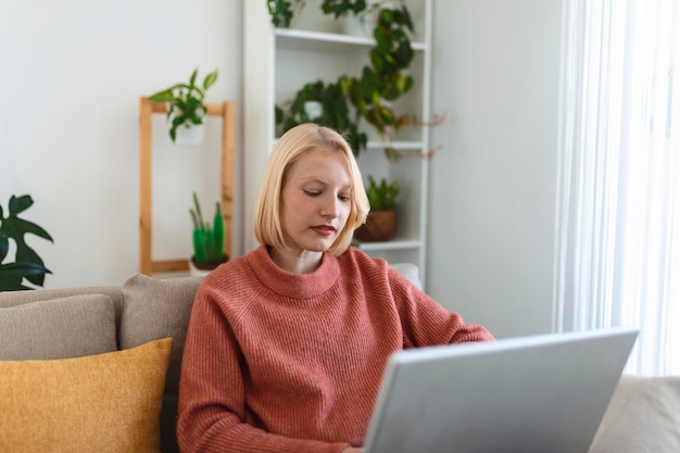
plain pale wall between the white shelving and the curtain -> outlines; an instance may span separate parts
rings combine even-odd
[[[496,337],[552,327],[561,14],[437,2],[428,292]]]

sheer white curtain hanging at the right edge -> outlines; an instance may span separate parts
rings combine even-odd
[[[680,375],[680,0],[565,0],[554,330]]]

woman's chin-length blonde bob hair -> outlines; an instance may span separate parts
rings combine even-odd
[[[267,160],[253,218],[255,238],[262,246],[290,249],[286,243],[281,227],[281,191],[293,165],[304,155],[319,148],[344,154],[352,184],[348,221],[328,249],[328,253],[336,256],[343,253],[350,247],[354,229],[366,222],[370,206],[352,148],[340,134],[328,127],[313,123],[301,124],[278,139]]]

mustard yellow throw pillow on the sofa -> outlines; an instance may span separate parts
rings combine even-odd
[[[160,452],[173,339],[77,358],[0,362],[3,452]]]

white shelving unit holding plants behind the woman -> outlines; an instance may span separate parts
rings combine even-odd
[[[410,71],[414,86],[394,103],[396,111],[411,112],[424,122],[431,119],[430,67],[433,0],[406,0],[414,22],[412,46],[415,58]],[[243,150],[244,150],[244,225],[245,250],[256,247],[252,234],[252,210],[260,178],[275,137],[274,105],[294,98],[306,83],[322,79],[337,81],[342,74],[358,76],[368,63],[373,37],[345,35],[341,22],[324,16],[319,0],[307,0],[302,14],[290,28],[275,28],[264,2],[243,2]],[[396,205],[395,237],[388,242],[364,242],[361,249],[391,263],[411,262],[420,268],[425,280],[429,160],[402,159],[390,162],[383,143],[365,121],[360,124],[368,134],[367,150],[358,164],[364,177],[373,175],[399,178],[402,192]],[[414,155],[430,150],[428,127],[407,127],[394,137],[392,146]]]

